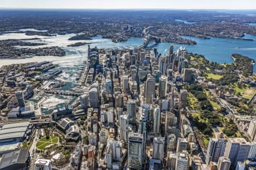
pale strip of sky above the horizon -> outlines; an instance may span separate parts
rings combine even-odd
[[[165,8],[256,10],[256,0],[0,0],[0,8]]]

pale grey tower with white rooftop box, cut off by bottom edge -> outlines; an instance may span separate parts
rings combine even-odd
[[[188,151],[187,150],[177,152],[176,169],[188,170]]]

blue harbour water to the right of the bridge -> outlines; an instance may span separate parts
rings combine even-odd
[[[188,52],[203,54],[209,61],[218,63],[232,63],[233,59],[230,57],[233,53],[239,53],[244,56],[255,59],[256,61],[256,36],[245,35],[245,39],[254,39],[254,41],[246,40],[231,40],[231,39],[220,39],[211,37],[209,40],[199,39],[196,37],[182,36],[186,39],[192,39],[197,42],[196,45],[181,45],[175,43],[163,42],[158,44],[158,52],[167,54],[167,49],[173,44],[176,49],[179,46],[185,46]],[[254,67],[254,72],[256,68]]]

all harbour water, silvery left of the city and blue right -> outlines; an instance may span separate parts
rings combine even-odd
[[[98,48],[130,48],[136,47],[143,44],[141,38],[133,37],[126,42],[114,43],[110,39],[103,39],[102,36],[93,37],[93,40],[79,40],[79,41],[69,41],[70,37],[74,34],[68,35],[57,35],[52,37],[44,36],[27,36],[24,33],[8,33],[5,35],[0,35],[0,40],[6,39],[31,39],[34,37],[40,38],[40,40],[32,40],[31,42],[44,42],[47,45],[40,46],[29,46],[28,48],[39,48],[44,46],[60,46],[67,53],[64,57],[55,57],[55,56],[36,56],[32,58],[24,59],[0,59],[0,67],[3,65],[10,65],[13,63],[27,63],[27,62],[40,62],[40,61],[52,61],[54,64],[57,64],[63,70],[63,73],[57,76],[55,80],[61,80],[65,82],[65,86],[60,87],[60,90],[70,90],[73,87],[77,86],[76,77],[81,73],[81,70],[78,68],[84,66],[83,61],[86,60],[88,47],[87,45],[71,47],[67,46],[69,44],[74,44],[76,42],[88,42],[90,46],[97,46]],[[179,46],[185,46],[188,52],[203,54],[210,61],[218,63],[231,63],[233,62],[230,57],[233,53],[240,53],[250,58],[256,60],[256,36],[246,35],[244,38],[253,39],[255,41],[246,41],[246,40],[231,40],[231,39],[220,39],[211,37],[211,39],[199,39],[196,37],[183,36],[187,39],[192,39],[197,42],[196,45],[184,45],[184,44],[174,44],[168,42],[162,42],[156,45],[158,52],[162,54],[167,54],[168,48],[171,44],[177,49]],[[18,46],[19,47],[19,46]],[[26,47],[26,46],[23,46]],[[21,47],[19,47],[21,48]],[[256,69],[254,67],[254,72]],[[67,96],[61,97],[59,95],[47,95],[48,98],[45,100],[42,105],[43,114],[48,114],[56,109],[56,107],[62,107],[65,102],[71,104],[75,97]]]

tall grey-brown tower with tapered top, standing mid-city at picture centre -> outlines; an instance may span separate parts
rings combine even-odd
[[[146,81],[146,103],[152,104],[155,97],[155,79],[154,76],[149,76]]]

